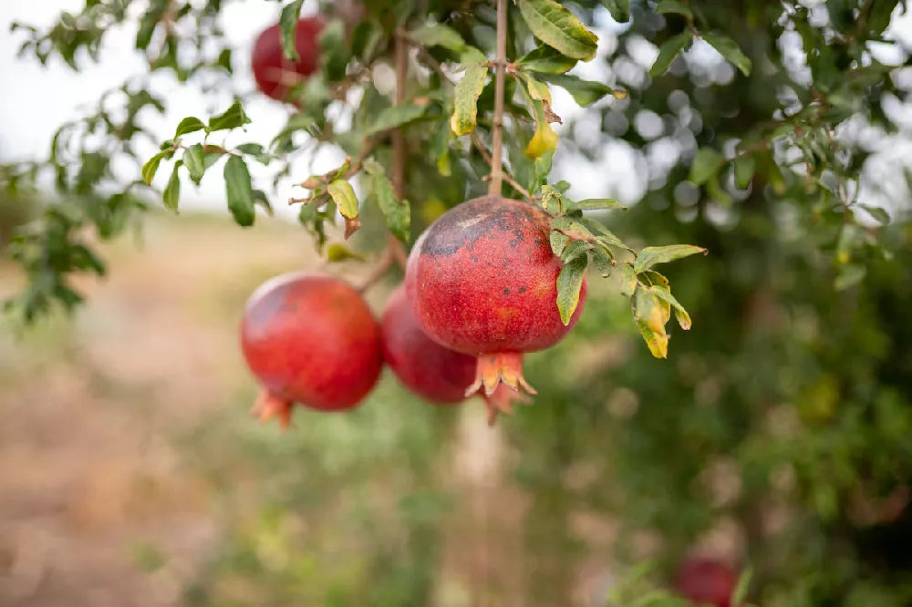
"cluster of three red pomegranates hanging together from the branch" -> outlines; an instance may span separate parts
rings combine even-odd
[[[560,342],[569,324],[555,304],[563,267],[548,241],[550,217],[520,201],[485,196],[447,211],[421,234],[405,282],[382,320],[350,284],[288,274],[250,297],[244,358],[263,386],[254,407],[286,426],[292,406],[358,406],[384,364],[414,394],[440,405],[481,392],[493,423],[534,388],[526,352]]]

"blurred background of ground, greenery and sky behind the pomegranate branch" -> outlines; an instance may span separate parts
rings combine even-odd
[[[0,26],[46,28],[82,4],[0,3]],[[760,605],[912,604],[912,18],[894,3],[893,43],[868,48],[888,82],[865,89],[836,133],[857,159],[846,187],[882,210],[858,211],[852,234],[883,247],[851,248],[794,141],[775,150],[783,170],[749,190],[731,176],[709,193],[689,180],[697,149],[782,118],[782,87],[817,76],[798,33],[703,3],[769,65],[755,59],[741,77],[698,43],[653,79],[666,17],[640,8],[622,25],[578,4],[599,51],[574,73],[631,95],[578,108],[554,87],[565,120],[554,179],[574,198],[630,205],[606,220],[627,242],[711,252],[668,267],[694,321],[674,331],[668,360],[649,355],[617,285],[592,280],[575,331],[527,358],[540,396],[498,427],[480,402],[430,406],[389,370],[350,415],[299,413],[284,434],[259,425],[237,344],[244,301],[275,274],[326,266],[296,210],[276,204],[242,231],[221,174],[207,176],[185,189],[180,217],[152,205],[141,229],[100,247],[109,276],[78,278],[78,314],[3,326],[0,606],[670,605],[657,589],[689,555],[750,571]],[[794,4],[822,31],[845,26],[840,3]],[[240,91],[253,90],[249,48],[279,9],[223,7]],[[46,157],[60,124],[145,70],[135,36],[113,30],[78,73],[16,57],[22,38],[0,36],[0,160]],[[159,141],[233,92],[168,74],[150,89],[168,99],[143,122]],[[256,96],[244,108],[245,140],[272,138],[291,114]],[[313,172],[344,157],[320,148]],[[278,180],[275,200],[293,181]],[[53,201],[52,180],[42,186],[30,203],[0,195],[0,246]],[[432,210],[425,222],[461,197],[429,191],[416,200]],[[863,271],[846,278],[831,249]],[[332,272],[358,281],[369,268]],[[0,294],[23,285],[0,263]],[[369,294],[378,314],[394,286]]]

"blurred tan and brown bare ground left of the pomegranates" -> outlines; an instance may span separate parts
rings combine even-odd
[[[22,340],[0,334],[0,605],[162,607],[218,531],[171,433],[247,378],[224,310],[251,284],[314,267],[305,234],[187,218],[105,250],[89,306]],[[0,269],[0,293],[16,288]],[[213,294],[214,293],[214,294]],[[220,305],[222,298],[236,304]],[[154,541],[166,568],[144,573]]]

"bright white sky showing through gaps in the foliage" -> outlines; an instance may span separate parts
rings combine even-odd
[[[78,118],[88,108],[98,102],[100,94],[112,87],[118,87],[130,75],[144,71],[144,60],[140,54],[133,50],[135,29],[132,26],[117,28],[105,38],[105,45],[101,52],[101,61],[98,64],[88,60],[82,62],[84,67],[81,72],[75,73],[62,62],[52,60],[47,67],[42,67],[36,59],[31,57],[16,57],[22,36],[8,34],[9,25],[14,21],[22,21],[35,26],[49,26],[55,22],[61,11],[69,10],[78,12],[84,0],[41,0],[41,2],[0,2],[0,31],[5,32],[0,36],[0,73],[5,75],[7,92],[0,95],[0,159],[32,159],[47,156],[47,150],[54,131],[63,122]],[[822,5],[815,0],[809,4]],[[253,78],[249,70],[249,49],[254,37],[266,26],[274,24],[278,17],[281,5],[275,2],[234,2],[226,3],[223,13],[223,26],[225,34],[236,49],[233,57],[235,80],[241,90],[251,90],[254,87]],[[305,2],[304,13],[316,10],[316,2]],[[617,32],[623,26],[611,21],[606,11],[601,11],[596,21],[596,34],[599,36],[598,57],[610,54],[617,45]],[[891,25],[891,32],[896,38],[912,46],[912,19],[908,15],[895,20]],[[796,42],[796,41],[793,41]],[[794,46],[794,44],[793,44]],[[797,52],[797,56],[795,56]],[[884,57],[894,61],[901,59],[895,51],[880,49]],[[645,73],[655,59],[658,49],[640,39],[631,45],[633,61],[627,64],[613,66],[613,70],[606,67],[604,61],[596,60],[587,64],[579,64],[574,73],[582,77],[598,79],[608,84],[637,84],[645,78]],[[800,50],[793,48],[793,60],[801,64]],[[880,58],[880,57],[878,57]],[[688,61],[700,63],[707,67],[717,81],[731,80],[734,72],[721,57],[705,43],[699,43],[688,54]],[[909,75],[912,78],[912,75]],[[154,92],[167,98],[169,112],[159,117],[149,114],[148,126],[159,136],[160,140],[169,139],[174,127],[185,116],[198,116],[203,119],[221,111],[230,103],[230,95],[204,96],[200,90],[192,86],[183,86],[173,80],[169,75],[157,77],[153,86]],[[594,113],[577,108],[575,102],[558,87],[553,87],[554,108],[563,118],[577,118],[576,127],[555,125],[561,136],[573,135],[576,139],[591,137],[593,133],[601,130],[600,121]],[[604,103],[613,103],[607,100]],[[603,103],[603,102],[600,102]],[[242,141],[259,141],[267,143],[285,124],[289,110],[282,104],[258,96],[246,103],[244,108],[252,118],[253,123],[248,125],[245,133],[237,133],[231,137],[243,139],[229,139],[229,143]],[[906,108],[907,109],[907,108]],[[908,115],[908,112],[906,112]],[[637,117],[634,128],[648,129],[649,121],[655,122],[658,116],[644,115]],[[569,120],[566,120],[569,121]],[[912,123],[912,120],[910,120]],[[568,129],[573,128],[573,132]],[[873,179],[882,181],[880,173],[896,172],[897,163],[905,163],[910,156],[910,144],[900,142],[901,145],[881,145],[882,155],[886,162],[875,170]],[[677,147],[676,147],[677,146]],[[156,149],[140,148],[151,156]],[[609,140],[599,149],[594,162],[582,158],[568,158],[567,149],[558,150],[558,164],[564,160],[565,165],[572,164],[574,184],[571,194],[577,198],[586,197],[613,197],[622,202],[637,201],[645,192],[649,180],[661,179],[662,173],[677,162],[682,153],[680,146],[674,142],[657,141],[647,149],[648,162],[643,157],[633,152],[621,140]],[[336,167],[344,155],[340,151],[333,152],[326,149],[314,160],[315,172],[331,170]],[[569,161],[568,161],[569,160]],[[254,180],[264,179],[261,183],[268,185],[271,182],[268,169],[251,163]],[[309,174],[305,168],[302,172]],[[169,170],[161,170],[156,184],[163,187],[167,180]],[[284,201],[291,196],[301,195],[303,190],[295,189],[293,181],[300,182],[307,174],[295,174],[294,180],[285,180],[280,183],[275,193],[275,201]],[[631,176],[634,176],[632,179]],[[185,181],[181,191],[181,204],[193,207],[202,207],[212,211],[224,210],[223,179],[221,170],[210,171],[203,179],[198,189],[190,186]],[[267,190],[267,188],[264,188]],[[275,205],[276,209],[289,218],[295,216],[295,210],[287,208],[284,204]]]

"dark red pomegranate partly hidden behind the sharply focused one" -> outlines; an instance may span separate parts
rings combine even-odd
[[[383,358],[403,386],[437,405],[465,401],[466,389],[475,376],[475,357],[443,347],[424,334],[404,284],[389,296],[380,332]],[[499,413],[510,413],[513,402],[521,398],[503,385],[492,396],[485,395],[489,422],[493,423]]]

